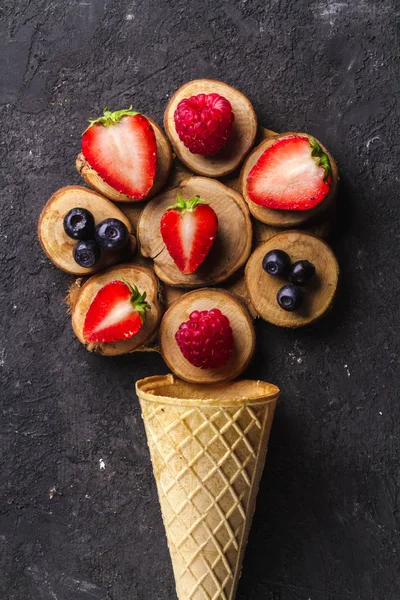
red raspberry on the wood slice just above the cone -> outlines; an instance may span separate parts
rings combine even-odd
[[[233,353],[231,324],[218,308],[193,311],[175,339],[186,360],[200,369],[223,367]]]

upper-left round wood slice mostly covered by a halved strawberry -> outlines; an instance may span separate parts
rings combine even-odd
[[[153,127],[156,142],[157,142],[157,168],[156,168],[156,177],[154,179],[153,187],[150,192],[146,196],[146,198],[141,198],[140,200],[135,200],[134,198],[130,198],[125,194],[121,194],[113,187],[111,187],[108,183],[104,181],[100,177],[100,175],[92,169],[89,165],[82,152],[78,154],[76,158],[76,168],[78,172],[82,175],[85,182],[94,190],[98,191],[106,198],[113,200],[114,202],[141,202],[143,200],[148,200],[149,198],[153,198],[158,192],[164,187],[169,172],[171,170],[172,165],[172,151],[171,147],[168,143],[167,138],[165,137],[162,129],[157,125],[155,121],[146,117],[148,121],[151,123]]]

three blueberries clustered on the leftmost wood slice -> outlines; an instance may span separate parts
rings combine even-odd
[[[74,260],[90,269],[99,260],[101,249],[121,250],[129,241],[129,231],[119,219],[105,219],[95,226],[92,213],[86,208],[72,208],[64,217],[64,231],[73,240]]]

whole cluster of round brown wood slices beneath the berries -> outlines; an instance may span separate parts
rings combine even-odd
[[[235,121],[229,144],[215,156],[204,157],[192,154],[181,142],[174,113],[183,98],[211,92],[230,101]],[[53,194],[39,220],[39,239],[57,267],[80,277],[70,288],[68,304],[73,330],[89,351],[115,356],[156,349],[181,379],[195,383],[233,379],[243,372],[254,353],[254,318],[262,317],[281,327],[299,327],[319,319],[332,304],[339,271],[323,239],[329,238],[335,220],[337,166],[319,142],[332,167],[329,194],[310,210],[274,210],[251,201],[247,178],[263,152],[289,134],[278,135],[259,126],[250,101],[241,92],[219,81],[192,81],[168,103],[164,116],[167,137],[149,121],[157,142],[157,170],[148,195],[136,201],[112,188],[79,154],[77,169],[94,191],[69,186]],[[218,233],[210,253],[188,275],[178,269],[160,233],[161,217],[178,194],[204,198],[218,217]],[[63,216],[75,206],[89,209],[96,223],[110,217],[125,223],[130,235],[128,246],[121,252],[102,254],[91,269],[77,265],[72,258],[73,240],[62,224]],[[275,248],[287,251],[293,260],[307,259],[316,267],[317,277],[300,311],[286,312],[278,306],[276,295],[281,283],[262,268],[263,257]],[[89,278],[83,280],[86,276]],[[98,290],[117,279],[146,291],[150,310],[143,328],[129,340],[88,344],[83,335],[85,314]],[[212,308],[228,316],[234,352],[221,369],[199,369],[184,358],[175,332],[193,310]]]

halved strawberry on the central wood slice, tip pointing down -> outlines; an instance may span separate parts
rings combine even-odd
[[[194,273],[214,243],[218,217],[204,200],[195,196],[170,206],[160,222],[161,235],[168,252],[182,273]]]

